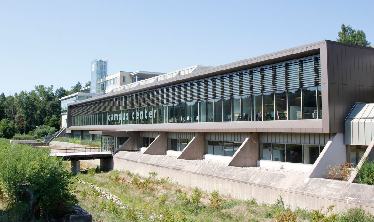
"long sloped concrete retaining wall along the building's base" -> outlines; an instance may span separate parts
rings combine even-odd
[[[178,160],[160,155],[120,151],[113,158],[116,170],[131,170],[142,176],[157,172],[159,177],[205,191],[219,191],[224,195],[247,200],[257,198],[260,203],[273,204],[282,196],[285,205],[309,210],[326,209],[333,204],[334,212],[346,207],[361,206],[374,214],[374,186],[350,184],[304,176],[267,172],[245,167],[227,167],[190,160]]]

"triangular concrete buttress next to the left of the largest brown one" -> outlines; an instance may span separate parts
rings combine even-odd
[[[201,160],[204,155],[204,133],[197,133],[177,159]]]

